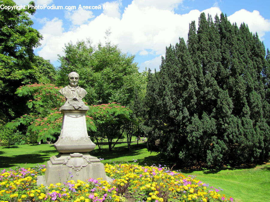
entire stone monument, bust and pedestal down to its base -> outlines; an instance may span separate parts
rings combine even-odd
[[[70,180],[71,176],[75,181],[84,181],[90,177],[110,181],[103,163],[89,154],[96,145],[86,130],[85,113],[89,107],[82,101],[86,91],[78,86],[79,75],[76,72],[71,72],[68,79],[70,84],[59,90],[66,98],[65,104],[60,107],[63,114],[61,133],[54,144],[59,154],[47,161],[46,184],[63,183]]]

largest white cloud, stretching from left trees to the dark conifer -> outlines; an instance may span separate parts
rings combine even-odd
[[[137,1],[135,0],[135,3]],[[174,2],[176,1],[170,1],[170,5],[173,5]],[[85,40],[86,38],[91,38],[94,44],[104,42],[105,32],[110,28],[110,40],[118,44],[123,52],[161,55],[164,54],[165,47],[170,44],[174,45],[179,41],[179,37],[184,37],[187,40],[189,23],[192,20],[197,22],[200,15],[199,10],[191,10],[187,14],[180,15],[172,10],[140,7],[139,4],[135,3],[132,2],[125,8],[121,19],[102,13],[88,24],[80,25],[68,32],[63,31],[62,25],[56,25],[56,23],[60,23],[60,20],[53,19],[47,22],[45,28],[40,30],[44,35],[44,40],[38,54],[54,61],[57,59],[57,54],[62,54],[64,43]],[[212,15],[221,12],[217,7],[205,11]],[[52,29],[48,28],[49,26]],[[57,28],[56,31],[55,28]],[[49,34],[51,30],[55,33]],[[51,45],[54,48],[48,48]],[[55,56],[52,57],[52,54]]]

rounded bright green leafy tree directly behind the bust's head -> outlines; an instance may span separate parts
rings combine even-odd
[[[57,71],[56,83],[67,85],[67,75],[77,72],[80,86],[87,91],[85,101],[91,104],[118,102],[128,106],[135,91],[143,93],[145,84],[138,72],[134,56],[123,54],[111,43],[93,47],[91,41],[78,41],[65,45],[65,56],[59,56],[61,66]]]

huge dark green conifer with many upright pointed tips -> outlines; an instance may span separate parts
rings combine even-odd
[[[148,147],[184,164],[240,164],[269,157],[269,51],[223,14],[190,23],[149,73]]]

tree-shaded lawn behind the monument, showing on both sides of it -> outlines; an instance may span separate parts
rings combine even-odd
[[[34,167],[37,164],[47,164],[49,158],[58,154],[53,145],[14,145],[8,148],[0,146],[0,170],[7,168]],[[131,151],[127,149],[127,143],[117,143],[113,151],[109,151],[108,145],[103,145],[101,151],[98,146],[91,152],[92,156],[104,158],[103,163],[110,162],[134,162],[137,159],[140,164],[152,165],[158,162],[158,154],[150,153],[146,149],[146,143],[131,143]]]

